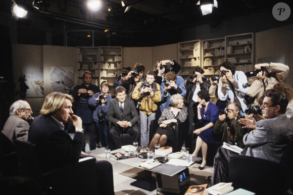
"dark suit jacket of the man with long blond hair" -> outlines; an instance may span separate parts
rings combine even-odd
[[[39,115],[29,128],[28,141],[35,144],[43,171],[78,162],[84,135],[75,132],[73,140],[51,116]]]

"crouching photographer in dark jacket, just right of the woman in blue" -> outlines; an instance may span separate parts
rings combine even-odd
[[[248,133],[247,128],[239,124],[241,108],[238,104],[230,103],[225,110],[219,111],[219,120],[215,123],[213,135],[215,140],[227,142],[245,148],[243,136]],[[223,114],[222,114],[223,113]]]

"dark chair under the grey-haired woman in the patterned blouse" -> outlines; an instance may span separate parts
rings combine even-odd
[[[150,125],[150,142],[153,139],[158,127],[159,127],[158,121],[152,120]],[[175,131],[174,140],[173,141],[170,139],[167,140],[165,145],[172,147],[173,153],[181,151],[183,141],[184,141],[184,132],[186,128],[187,128],[186,121],[184,123],[176,123],[175,129],[174,129]]]

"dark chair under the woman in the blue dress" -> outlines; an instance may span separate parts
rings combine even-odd
[[[191,129],[195,129],[195,125],[194,123],[192,123],[191,125]],[[189,153],[193,153],[194,150],[196,149],[196,143],[197,143],[197,136],[196,134],[194,134],[193,132],[191,133],[191,150],[189,151]],[[214,143],[210,143],[208,144],[208,151],[207,151],[207,166],[212,167],[214,165],[214,158],[217,154],[218,149],[223,145],[223,143],[219,142],[219,141],[215,141]],[[199,153],[198,153],[198,157],[203,157],[202,155],[202,148],[200,149]]]

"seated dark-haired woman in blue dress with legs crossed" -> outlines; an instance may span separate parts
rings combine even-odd
[[[199,150],[202,147],[203,162],[199,167],[203,170],[207,163],[207,151],[208,144],[213,143],[213,128],[216,121],[219,119],[219,108],[210,102],[210,94],[207,90],[201,90],[198,92],[198,118],[204,127],[196,129],[193,133],[199,135],[196,143],[196,150],[194,150],[192,156],[197,157]]]

